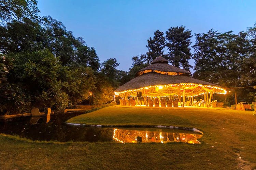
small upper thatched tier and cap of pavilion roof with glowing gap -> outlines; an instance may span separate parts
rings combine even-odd
[[[163,57],[158,57],[151,63],[150,66],[140,69],[135,76],[142,75],[149,72],[158,72],[160,74],[168,75],[188,75],[190,72],[178,67],[168,64],[168,61]]]

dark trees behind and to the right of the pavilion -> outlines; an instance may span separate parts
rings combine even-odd
[[[158,56],[163,56],[173,66],[186,70],[191,68],[188,60],[193,58],[194,78],[222,87],[236,87],[228,89],[231,93],[226,95],[226,100],[215,95],[219,102],[234,104],[235,92],[239,101],[256,100],[255,89],[238,88],[256,86],[256,24],[238,34],[232,31],[220,33],[213,29],[207,33],[195,34],[196,42],[192,47],[191,37],[191,31],[185,30],[183,26],[171,27],[165,34],[156,30],[154,37],[147,40],[148,52],[132,57],[132,67],[120,83],[124,84],[134,78],[138,70],[148,66]],[[194,49],[193,54],[190,48]]]

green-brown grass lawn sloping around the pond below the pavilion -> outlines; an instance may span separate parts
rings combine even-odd
[[[0,135],[0,169],[255,169],[256,117],[251,111],[110,106],[68,122],[198,128],[186,143],[38,142]],[[239,158],[240,157],[240,158]]]

